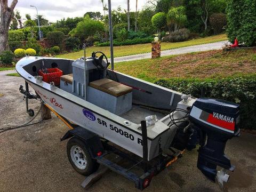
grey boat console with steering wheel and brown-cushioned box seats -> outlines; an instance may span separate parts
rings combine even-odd
[[[92,53],[90,58],[75,60],[73,74],[60,77],[60,89],[116,115],[124,114],[132,108],[132,87],[106,78],[109,63],[102,55],[98,58]]]

